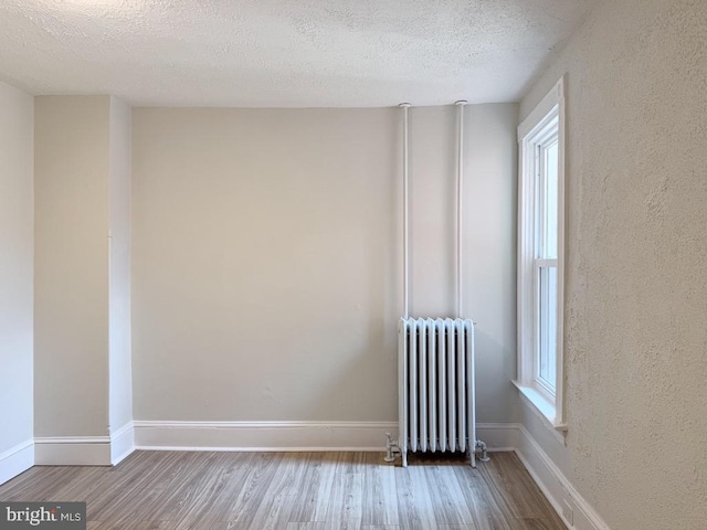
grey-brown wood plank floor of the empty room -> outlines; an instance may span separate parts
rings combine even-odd
[[[33,467],[0,501],[86,501],[91,530],[564,530],[514,453],[476,469],[382,456],[140,451],[115,468]]]

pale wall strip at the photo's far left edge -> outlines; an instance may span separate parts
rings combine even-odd
[[[33,430],[33,113],[32,96],[0,82],[0,454]]]

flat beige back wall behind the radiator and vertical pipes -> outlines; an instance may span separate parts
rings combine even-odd
[[[467,108],[482,421],[514,412],[516,110]],[[446,315],[453,108],[411,127],[412,312]],[[394,421],[400,110],[138,108],[133,149],[136,420]]]

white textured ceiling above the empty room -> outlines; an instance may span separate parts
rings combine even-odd
[[[600,0],[0,0],[0,78],[136,106],[514,102]]]

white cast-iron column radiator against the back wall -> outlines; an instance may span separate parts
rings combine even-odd
[[[399,446],[408,452],[467,453],[476,467],[474,324],[401,318]]]

